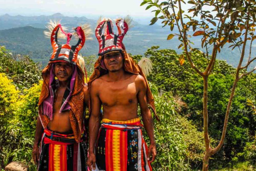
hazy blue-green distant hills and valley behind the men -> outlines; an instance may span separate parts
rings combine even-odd
[[[28,54],[36,62],[40,62],[43,66],[46,65],[52,53],[52,47],[50,40],[44,37],[43,31],[50,19],[61,19],[61,23],[69,29],[88,23],[94,31],[97,23],[96,20],[86,17],[67,17],[60,13],[50,16],[40,15],[32,17],[5,14],[0,16],[0,45],[6,46],[13,53]],[[178,49],[181,42],[177,37],[172,38],[170,41],[166,40],[167,36],[171,33],[168,26],[162,28],[159,25],[142,25],[136,22],[136,19],[134,20],[132,23],[134,27],[127,32],[123,41],[129,53],[134,55],[143,54],[149,47],[155,45],[159,45],[161,49],[174,49],[181,53],[181,50]],[[175,33],[175,31],[172,33]],[[98,42],[94,33],[92,38],[93,40],[86,41],[85,47],[80,51],[83,56],[97,55]],[[201,48],[200,38],[192,37],[191,40],[195,43],[196,47]],[[75,41],[72,40],[71,44],[74,44]],[[252,53],[256,50],[255,47],[256,44],[253,46]],[[217,58],[226,60],[232,66],[236,66],[239,54],[240,52],[237,49],[232,51],[226,45]]]

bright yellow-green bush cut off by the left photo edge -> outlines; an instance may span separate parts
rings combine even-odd
[[[13,109],[19,97],[19,91],[8,79],[6,74],[0,73],[0,123],[5,124],[7,120],[13,117]]]

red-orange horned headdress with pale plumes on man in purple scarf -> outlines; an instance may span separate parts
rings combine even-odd
[[[82,27],[88,30],[84,31]],[[62,28],[61,24],[52,21],[50,22],[50,25],[48,26],[49,31],[45,31],[44,34],[47,37],[51,37],[53,49],[52,56],[50,58],[51,62],[66,61],[71,64],[76,64],[78,52],[84,46],[85,37],[86,35],[88,35],[88,32],[90,32],[88,25],[84,25],[82,27],[74,28],[75,33],[66,33],[64,31],[66,30],[65,27]],[[76,35],[78,37],[78,42],[76,43],[76,45],[69,44],[72,35]],[[58,36],[60,38],[66,37],[67,43],[59,44]]]

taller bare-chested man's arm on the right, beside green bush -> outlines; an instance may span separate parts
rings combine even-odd
[[[156,141],[154,136],[153,119],[147,104],[147,95],[146,95],[147,85],[146,85],[145,79],[141,75],[138,75],[138,77],[136,78],[136,82],[137,82],[136,85],[139,88],[138,101],[140,104],[140,113],[142,116],[144,127],[146,128],[148,137],[150,139],[150,145],[148,148],[147,156],[148,156],[148,160],[150,159],[150,156],[152,156],[152,159],[150,160],[150,162],[153,162],[156,158]]]

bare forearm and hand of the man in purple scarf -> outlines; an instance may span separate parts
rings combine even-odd
[[[38,164],[38,161],[39,161],[39,144],[40,144],[43,132],[44,132],[44,128],[38,116],[36,121],[35,141],[34,141],[34,146],[32,151],[32,157],[36,165]]]

